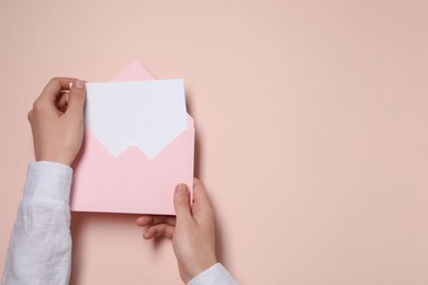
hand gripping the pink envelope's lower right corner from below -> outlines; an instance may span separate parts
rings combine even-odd
[[[177,217],[144,215],[136,219],[136,224],[147,227],[143,236],[145,239],[172,239],[180,276],[188,283],[217,262],[214,212],[202,182],[196,179],[193,183],[193,205],[185,184],[177,185],[173,204]]]

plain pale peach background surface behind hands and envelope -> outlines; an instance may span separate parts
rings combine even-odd
[[[183,78],[243,284],[428,284],[428,2],[0,1],[0,266],[53,76]],[[180,284],[135,216],[74,214],[71,284]]]

